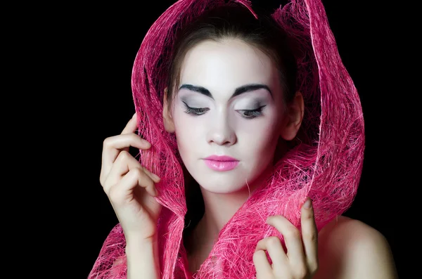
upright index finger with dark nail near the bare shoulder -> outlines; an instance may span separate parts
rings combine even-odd
[[[302,205],[300,222],[307,264],[309,268],[316,270],[318,266],[318,229],[316,228],[312,200],[309,197]]]

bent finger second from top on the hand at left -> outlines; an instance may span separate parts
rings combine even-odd
[[[151,148],[151,143],[148,143],[148,141],[145,141],[136,134],[123,134],[106,138],[103,143],[103,157],[100,175],[101,181],[103,181],[105,176],[108,175],[111,166],[115,162],[121,150],[128,149],[130,146],[146,150]]]

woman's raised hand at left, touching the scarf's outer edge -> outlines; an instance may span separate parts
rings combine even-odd
[[[135,134],[136,114],[124,127],[122,134],[110,136],[103,143],[100,182],[113,206],[125,238],[153,240],[161,211],[155,197],[155,183],[160,178],[129,153],[129,146],[146,150],[151,143]]]

